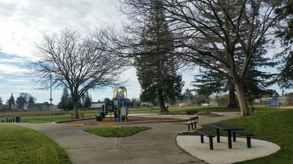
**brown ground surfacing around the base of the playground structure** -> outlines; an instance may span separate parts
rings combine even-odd
[[[182,120],[180,118],[161,118],[161,117],[138,117],[138,116],[129,116],[127,122],[142,122],[142,121],[166,121],[166,120]],[[122,120],[124,121],[124,120]],[[71,122],[63,122],[61,124],[84,124],[84,125],[98,125],[100,123],[113,123],[115,122],[110,118],[106,118],[103,121],[97,121],[96,119],[90,120],[79,120],[79,121],[71,121]]]

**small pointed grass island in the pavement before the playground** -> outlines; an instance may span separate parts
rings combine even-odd
[[[87,128],[84,131],[102,137],[127,137],[138,132],[151,129],[149,127]]]

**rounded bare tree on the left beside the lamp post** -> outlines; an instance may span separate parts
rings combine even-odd
[[[69,89],[75,110],[78,102],[90,89],[114,87],[121,83],[119,74],[125,70],[124,60],[105,53],[105,47],[77,31],[64,30],[59,34],[43,34],[36,44],[36,62],[30,64],[31,74],[37,75],[37,82],[48,89],[52,74],[52,86]]]

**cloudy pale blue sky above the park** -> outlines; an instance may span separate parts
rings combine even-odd
[[[27,74],[29,62],[36,60],[34,44],[40,41],[42,33],[59,32],[64,28],[85,33],[100,24],[119,27],[123,19],[115,0],[0,0],[0,97],[5,102],[11,93],[16,98],[21,92],[27,92],[36,97],[37,102],[49,101],[50,92],[39,90],[40,85]],[[275,49],[268,55],[274,53]],[[266,71],[276,72],[276,69]],[[190,82],[199,70],[181,73],[184,90],[192,89]],[[121,78],[128,79],[125,84],[128,98],[138,98],[141,88],[136,70],[126,70]],[[281,92],[276,85],[271,88]],[[62,89],[53,90],[54,104],[60,101],[61,93]],[[113,88],[89,93],[93,101],[103,100],[112,97]]]

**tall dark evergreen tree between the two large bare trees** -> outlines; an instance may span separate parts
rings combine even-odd
[[[145,46],[134,62],[142,88],[140,99],[153,102],[158,98],[160,111],[166,111],[164,101],[180,98],[184,83],[182,75],[176,73],[175,61],[169,55],[172,52],[173,38],[163,10],[154,8],[151,11],[146,18],[145,34],[141,38],[141,43]]]

